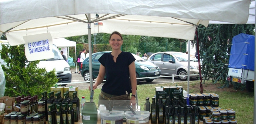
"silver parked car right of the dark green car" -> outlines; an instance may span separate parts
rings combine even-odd
[[[180,80],[188,79],[188,76],[182,76],[188,74],[188,68],[190,68],[189,74],[199,74],[198,63],[190,57],[190,67],[188,67],[188,54],[182,52],[157,52],[149,56],[148,61],[160,68],[161,75],[181,75],[178,77]],[[199,78],[199,75],[190,75],[190,78],[193,77]]]

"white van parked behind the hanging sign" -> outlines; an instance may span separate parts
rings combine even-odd
[[[1,40],[1,43],[3,43],[4,45],[9,45],[7,40]],[[2,49],[2,44],[0,44],[0,49]],[[72,74],[69,64],[63,59],[60,51],[54,44],[52,46],[52,52],[54,53],[54,58],[40,60],[39,64],[37,64],[37,67],[45,68],[47,73],[55,69],[55,75],[58,78],[57,83],[60,85],[61,83],[70,83],[72,79]],[[1,58],[0,63],[6,65],[4,60],[2,60]]]

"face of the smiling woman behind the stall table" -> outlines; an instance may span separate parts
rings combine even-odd
[[[109,40],[109,44],[113,50],[118,50],[121,49],[123,41],[119,35],[113,34]]]

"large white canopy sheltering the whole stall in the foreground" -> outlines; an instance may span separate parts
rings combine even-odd
[[[0,35],[10,45],[46,32],[53,39],[88,34],[89,46],[92,33],[113,31],[193,40],[196,27],[207,27],[210,20],[245,24],[249,5],[250,0],[5,0],[0,1]]]

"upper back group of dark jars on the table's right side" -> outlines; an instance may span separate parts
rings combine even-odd
[[[196,106],[213,106],[219,107],[219,95],[209,94],[189,94],[189,104]]]

